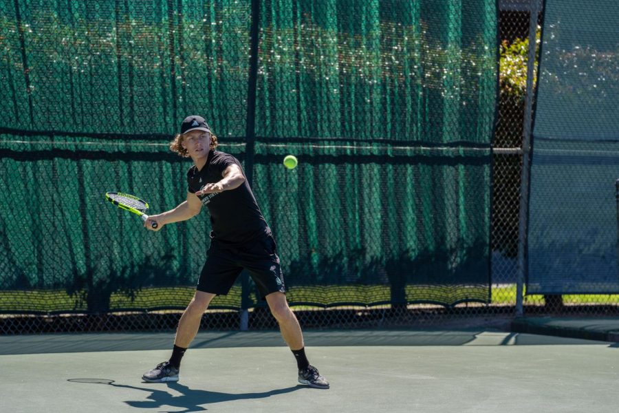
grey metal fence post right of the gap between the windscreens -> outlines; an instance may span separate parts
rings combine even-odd
[[[525,268],[527,266],[527,231],[529,219],[529,178],[531,157],[532,110],[533,110],[533,75],[536,56],[537,17],[539,0],[531,0],[529,21],[529,56],[527,59],[527,92],[525,97],[524,128],[522,136],[522,174],[520,184],[520,216],[518,224],[518,278],[516,284],[516,316],[522,317]]]

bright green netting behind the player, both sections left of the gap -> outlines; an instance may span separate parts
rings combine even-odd
[[[488,301],[495,2],[258,6],[252,72],[251,1],[0,3],[0,312],[186,306],[206,211],[151,233],[103,195],[184,200],[193,113],[252,172],[293,304]],[[257,303],[239,279],[213,306]]]

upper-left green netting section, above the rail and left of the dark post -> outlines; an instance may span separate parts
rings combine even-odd
[[[200,113],[245,135],[248,1],[3,0],[0,11],[2,127],[171,134]]]

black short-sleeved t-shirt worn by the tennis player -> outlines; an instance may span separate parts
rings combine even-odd
[[[224,170],[232,164],[241,167],[234,156],[221,151],[210,151],[206,165],[201,170],[198,171],[194,165],[187,171],[188,191],[196,193],[205,184],[219,182],[224,177]],[[213,229],[210,237],[214,240],[226,244],[242,244],[271,232],[247,180],[235,189],[207,193],[198,198],[208,207]]]

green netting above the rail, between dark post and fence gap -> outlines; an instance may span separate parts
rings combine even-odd
[[[494,2],[261,5],[258,136],[490,142]]]

